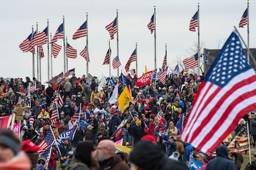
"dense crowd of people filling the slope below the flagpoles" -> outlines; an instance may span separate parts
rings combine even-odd
[[[129,107],[121,112],[118,101],[108,103],[114,89],[114,86],[109,86],[110,78],[106,79],[101,89],[98,89],[97,77],[88,82],[85,75],[77,78],[75,73],[60,83],[48,84],[47,88],[36,78],[30,80],[26,77],[25,81],[22,78],[0,78],[0,117],[15,113],[16,123],[21,122],[20,139],[11,131],[0,131],[0,168],[20,165],[21,169],[44,169],[46,160],[38,157],[38,144],[51,129],[57,138],[68,131],[72,122],[77,124],[74,138],[64,138],[59,149],[52,147],[49,169],[57,168],[57,160],[62,169],[187,169],[194,148],[180,139],[181,129],[176,124],[181,119],[182,124],[185,123],[204,76],[170,73],[166,75],[165,84],[154,81],[142,87],[135,86],[136,75],[127,79],[134,102],[130,102]],[[118,77],[115,81],[118,94],[121,94],[127,82]],[[58,98],[62,98],[63,103],[58,103]],[[54,107],[58,109],[59,118],[52,121]],[[79,118],[76,119],[87,122],[85,128],[72,121],[77,112]],[[255,147],[254,112],[244,116],[244,119],[250,122]],[[126,123],[120,125],[124,120]],[[243,124],[240,121],[235,133],[241,130]],[[121,138],[123,146],[133,148],[130,154],[116,154],[114,142]],[[20,141],[29,159],[23,157],[24,153],[18,149]],[[11,150],[12,153],[3,152],[10,157],[1,157],[2,146]],[[241,165],[235,166],[228,161],[224,143],[216,149],[216,155],[216,159],[210,160],[200,151],[193,154],[197,161],[207,163],[210,160],[206,169],[241,168]],[[12,160],[12,157],[22,160],[4,165],[4,161]],[[17,165],[16,161],[23,162]],[[221,161],[223,166],[218,164]],[[31,166],[27,166],[29,162]]]

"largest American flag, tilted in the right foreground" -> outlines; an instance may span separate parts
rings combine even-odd
[[[233,31],[197,91],[182,140],[210,154],[255,107],[256,75]]]

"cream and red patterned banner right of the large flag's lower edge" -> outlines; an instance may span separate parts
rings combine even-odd
[[[243,152],[249,150],[248,144],[247,128],[244,126],[227,148],[229,148],[230,153]]]

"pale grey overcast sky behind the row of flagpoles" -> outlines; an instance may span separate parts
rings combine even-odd
[[[247,7],[247,1],[242,0],[215,0],[215,1],[97,1],[97,0],[54,0],[54,1],[3,1],[0,10],[1,22],[1,73],[7,77],[32,77],[32,55],[23,53],[18,47],[31,32],[31,25],[38,22],[38,30],[42,31],[49,19],[49,32],[55,33],[65,15],[65,34],[68,42],[77,49],[77,58],[68,59],[68,69],[76,68],[78,77],[86,73],[86,62],[80,51],[84,49],[86,38],[72,39],[73,33],[85,21],[88,12],[88,50],[90,53],[89,72],[101,77],[108,76],[108,65],[102,66],[110,38],[105,25],[109,24],[118,15],[119,29],[119,59],[124,67],[129,56],[138,42],[138,75],[144,70],[154,68],[154,34],[151,35],[147,24],[154,13],[156,5],[157,27],[157,67],[162,66],[167,44],[167,61],[174,69],[179,58],[187,58],[191,48],[197,42],[197,32],[188,30],[191,17],[196,13],[197,2],[200,3],[200,32],[201,41],[208,49],[218,49],[233,30],[238,27],[241,16]],[[251,1],[249,7],[250,47],[256,47],[256,2]],[[253,22],[254,21],[254,22]],[[247,27],[238,29],[247,42]],[[63,40],[57,44],[63,46]],[[110,42],[112,59],[116,56],[116,35]],[[47,80],[47,46],[44,45],[45,58],[41,60],[42,81]],[[35,60],[35,64],[36,64]],[[53,58],[53,76],[63,70],[63,49],[57,58]],[[135,63],[130,66],[135,68]],[[121,72],[121,71],[120,71]],[[116,70],[112,69],[113,75]],[[35,69],[37,76],[37,69]]]

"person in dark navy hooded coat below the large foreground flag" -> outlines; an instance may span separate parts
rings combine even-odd
[[[229,159],[229,151],[226,146],[221,145],[216,149],[217,157],[210,160],[205,170],[235,170],[235,163]]]

